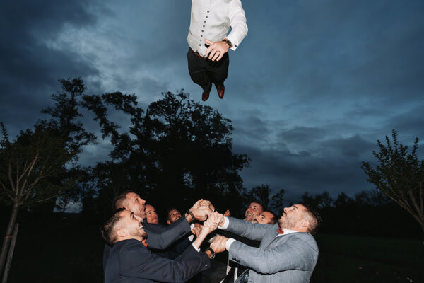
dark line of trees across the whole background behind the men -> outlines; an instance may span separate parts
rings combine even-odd
[[[33,128],[10,141],[1,124],[0,200],[12,207],[10,224],[20,207],[34,216],[43,211],[51,214],[54,205],[64,211],[71,201],[82,205],[83,220],[102,221],[123,190],[139,192],[158,212],[187,209],[204,197],[221,212],[230,209],[232,216],[242,216],[252,200],[281,214],[285,190],[272,194],[266,184],[250,190],[243,187],[239,173],[249,166],[249,157],[232,151],[231,120],[190,100],[184,90],[163,93],[163,98],[142,108],[135,95],[88,95],[81,79],[59,82],[62,91],[52,96],[54,105],[42,110],[45,119]],[[93,118],[98,125],[94,131],[111,146],[107,161],[88,168],[78,165],[78,154],[98,137],[86,131],[83,113]],[[379,194],[341,194],[336,200],[327,192],[302,196],[322,211],[323,231],[379,233],[387,230],[391,219],[409,223],[411,219],[395,203],[413,212],[418,222],[423,219],[424,163],[416,156],[418,139],[409,155],[407,147],[396,141],[396,132],[394,146],[389,139],[387,146],[378,144],[375,157],[380,166],[374,169],[363,163],[363,168]],[[388,195],[394,187],[397,195]],[[370,219],[378,216],[382,220],[372,225]]]

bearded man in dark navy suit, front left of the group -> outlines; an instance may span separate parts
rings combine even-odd
[[[204,226],[181,257],[169,260],[147,250],[141,218],[125,208],[118,209],[102,227],[103,238],[113,245],[105,266],[105,283],[185,282],[211,266],[213,250],[202,253],[199,247],[213,229]]]

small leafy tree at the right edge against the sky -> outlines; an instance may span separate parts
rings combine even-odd
[[[417,156],[419,139],[408,154],[408,146],[399,143],[395,130],[391,137],[393,141],[386,136],[385,145],[377,140],[379,152],[372,151],[377,166],[364,161],[363,171],[367,180],[411,214],[424,232],[424,161]]]

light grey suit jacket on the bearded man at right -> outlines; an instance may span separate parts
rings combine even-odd
[[[230,246],[230,260],[251,269],[249,283],[310,281],[318,259],[318,246],[310,233],[278,236],[278,224],[252,224],[231,217],[226,230],[261,241],[259,248],[239,241]]]

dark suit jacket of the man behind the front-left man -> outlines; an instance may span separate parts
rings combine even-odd
[[[170,226],[155,226],[155,224],[148,224],[147,221],[143,221],[143,229],[147,232],[146,243],[148,248],[155,250],[165,250],[165,248],[168,248],[172,243],[191,231],[190,224],[185,217],[181,217]],[[152,230],[156,231],[156,233]],[[105,244],[103,250],[103,273],[105,273],[110,249],[111,246]]]

